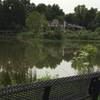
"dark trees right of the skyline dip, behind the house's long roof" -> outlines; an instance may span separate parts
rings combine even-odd
[[[74,9],[74,13],[65,16],[65,20],[94,31],[100,27],[100,12],[96,8],[88,9],[85,5],[78,5]]]

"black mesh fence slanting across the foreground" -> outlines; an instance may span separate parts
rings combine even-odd
[[[100,73],[17,85],[0,90],[0,100],[98,100]]]

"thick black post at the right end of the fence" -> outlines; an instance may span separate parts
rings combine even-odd
[[[98,100],[100,94],[100,78],[93,78],[90,83],[89,93],[92,97],[92,100]]]

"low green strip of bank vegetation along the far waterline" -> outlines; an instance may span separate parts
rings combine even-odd
[[[94,32],[90,30],[49,30],[46,32],[20,32],[17,34],[19,39],[49,39],[49,40],[63,40],[63,39],[74,39],[74,40],[100,40],[100,28],[97,28]]]

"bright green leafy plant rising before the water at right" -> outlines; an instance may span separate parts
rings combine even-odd
[[[97,52],[98,49],[93,45],[88,44],[82,47],[78,52],[74,53],[75,56],[72,59],[72,67],[81,73],[93,71]]]

